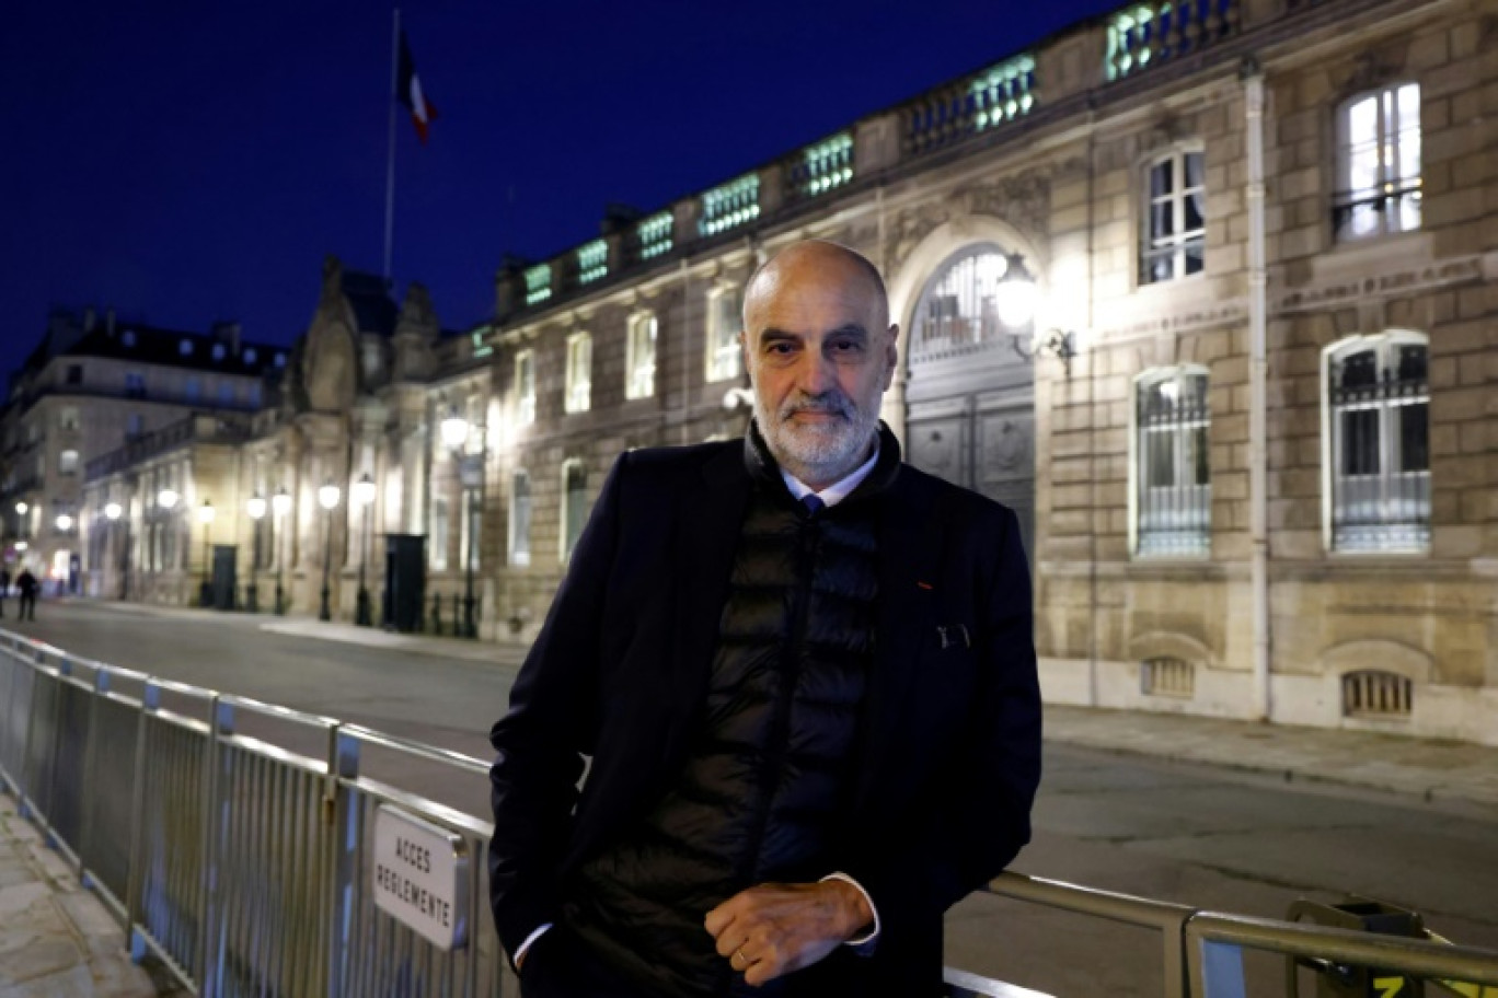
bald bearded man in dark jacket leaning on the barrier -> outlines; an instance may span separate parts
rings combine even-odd
[[[743,319],[749,434],[619,458],[491,733],[526,998],[939,995],[1029,839],[1014,513],[902,464],[863,256],[791,245]]]

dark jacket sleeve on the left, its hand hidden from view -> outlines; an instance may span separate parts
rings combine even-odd
[[[490,732],[496,753],[490,768],[490,905],[508,953],[557,914],[557,866],[571,841],[583,756],[592,751],[598,724],[601,627],[628,456],[608,473],[511,688],[509,711]]]

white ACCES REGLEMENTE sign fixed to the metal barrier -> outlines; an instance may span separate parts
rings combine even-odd
[[[467,943],[469,854],[460,835],[382,803],[372,875],[380,911],[443,950]]]

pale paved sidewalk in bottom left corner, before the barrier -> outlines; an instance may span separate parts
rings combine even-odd
[[[0,795],[0,998],[154,998],[120,923]]]

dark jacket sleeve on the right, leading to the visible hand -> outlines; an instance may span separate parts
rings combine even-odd
[[[992,540],[987,551],[993,551]],[[1010,510],[1004,510],[996,555],[989,555],[978,603],[984,613],[975,645],[978,685],[948,756],[951,765],[933,775],[909,823],[891,835],[875,830],[875,850],[846,869],[879,910],[881,950],[920,934],[1002,872],[1029,841],[1041,706],[1031,578]]]

